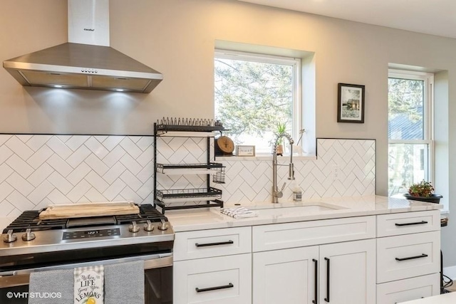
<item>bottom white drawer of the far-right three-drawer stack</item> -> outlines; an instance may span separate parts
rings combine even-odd
[[[440,274],[377,285],[377,303],[395,304],[440,294]]]

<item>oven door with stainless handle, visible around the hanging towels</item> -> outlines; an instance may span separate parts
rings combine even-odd
[[[138,260],[144,261],[145,303],[172,304],[172,253],[115,258],[103,261],[64,264],[0,273],[0,303],[28,303],[28,281],[30,273],[33,271],[71,269],[86,266],[125,263]]]

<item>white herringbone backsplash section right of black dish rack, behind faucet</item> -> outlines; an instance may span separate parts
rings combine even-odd
[[[284,198],[292,199],[289,157],[278,168],[278,184],[286,182]],[[226,161],[222,199],[234,202],[271,201],[272,161]],[[336,167],[337,166],[337,167]],[[296,182],[304,199],[375,194],[375,140],[318,139],[316,160],[295,160]]]

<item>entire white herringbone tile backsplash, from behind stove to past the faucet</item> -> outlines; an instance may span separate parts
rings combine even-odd
[[[206,162],[206,153],[206,138],[157,140],[157,162]],[[304,198],[375,194],[375,140],[318,139],[317,154],[316,160],[294,160]],[[225,160],[226,183],[214,187],[224,201],[270,201],[271,162]],[[0,135],[0,217],[48,204],[152,203],[153,171],[152,136]],[[278,174],[279,186],[287,182],[284,199],[291,199],[288,167]],[[158,189],[205,187],[205,181],[205,175],[157,174]]]

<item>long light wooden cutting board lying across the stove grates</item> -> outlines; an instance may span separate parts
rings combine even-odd
[[[139,214],[133,201],[109,201],[105,203],[81,203],[49,205],[39,214],[39,219],[73,219],[90,216]]]

